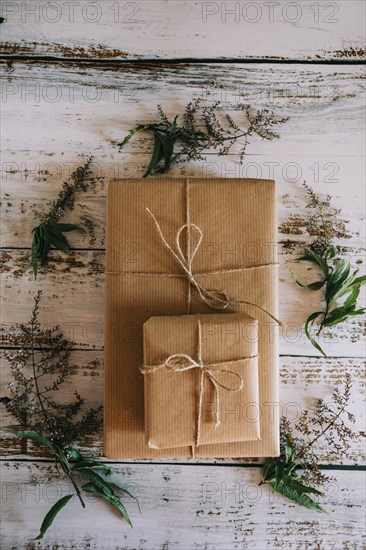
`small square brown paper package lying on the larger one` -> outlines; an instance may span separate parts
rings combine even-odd
[[[248,315],[152,317],[141,370],[149,447],[259,439],[258,322]]]

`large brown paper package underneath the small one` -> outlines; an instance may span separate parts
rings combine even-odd
[[[202,289],[226,293],[230,306],[223,315],[241,312],[258,319],[261,439],[199,445],[195,456],[278,455],[278,327],[268,315],[277,317],[275,196],[275,183],[268,180],[154,178],[110,182],[104,403],[104,451],[108,457],[192,456],[190,446],[151,449],[146,444],[140,367],[143,325],[150,317],[221,311],[204,302]],[[155,216],[161,233],[146,208]],[[198,248],[197,229],[182,230],[179,241],[191,260],[196,251],[190,266],[191,284],[187,271],[162,240],[163,236],[176,251],[177,232],[187,222],[202,232]],[[235,304],[239,301],[255,306]]]

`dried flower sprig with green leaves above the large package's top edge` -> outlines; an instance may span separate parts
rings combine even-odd
[[[223,112],[220,101],[211,104],[204,104],[202,98],[190,101],[185,108],[180,126],[177,124],[179,115],[169,120],[163,107],[158,105],[160,121],[136,126],[118,146],[126,145],[138,132],[152,132],[154,149],[144,177],[165,173],[172,164],[205,160],[203,153],[209,149],[217,151],[220,156],[227,155],[236,143],[239,144],[239,158],[242,164],[251,136],[256,134],[266,140],[278,138],[274,127],[288,119],[278,117],[267,109],[257,111],[245,104],[239,104],[237,107],[244,113],[245,128],[239,126],[231,115]]]

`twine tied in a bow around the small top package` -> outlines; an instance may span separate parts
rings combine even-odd
[[[144,365],[141,367],[140,371],[142,374],[152,374],[157,370],[166,368],[173,372],[184,372],[192,369],[197,369],[200,374],[199,381],[199,398],[198,398],[198,414],[197,414],[197,424],[196,424],[196,445],[199,444],[200,440],[200,431],[201,431],[201,418],[202,418],[202,404],[203,404],[203,393],[204,393],[204,377],[211,382],[214,392],[214,417],[215,417],[215,429],[220,425],[220,390],[222,388],[225,391],[229,392],[238,392],[243,388],[244,381],[242,376],[229,369],[224,368],[225,365],[237,364],[243,361],[249,361],[254,359],[257,356],[243,357],[240,359],[234,359],[229,361],[218,361],[218,362],[204,362],[202,360],[202,324],[201,320],[198,319],[198,353],[197,360],[193,359],[190,355],[185,353],[175,353],[170,355],[162,363],[156,365]],[[232,380],[232,384],[225,384],[220,381],[219,374],[225,373],[229,375]]]

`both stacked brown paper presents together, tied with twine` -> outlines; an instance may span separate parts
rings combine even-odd
[[[279,452],[275,184],[115,180],[105,453]]]

